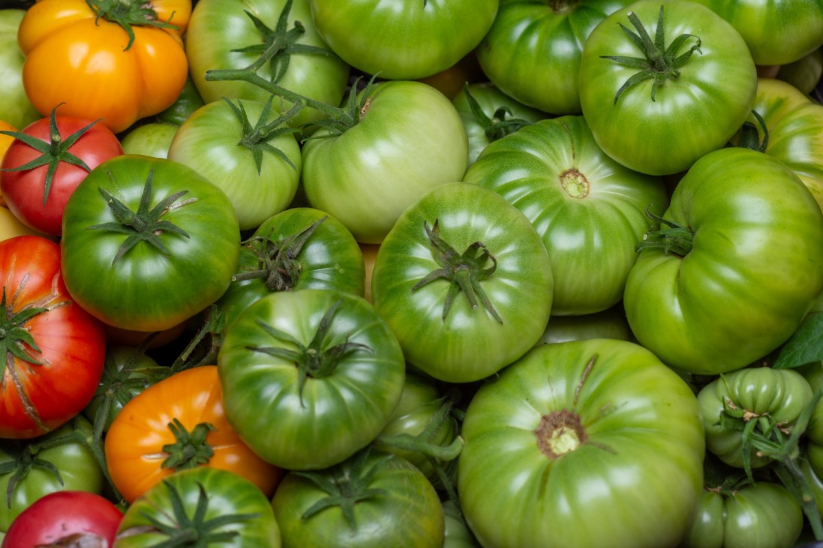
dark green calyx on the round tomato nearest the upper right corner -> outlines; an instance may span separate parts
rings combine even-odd
[[[677,38],[673,39],[672,43],[666,47],[663,31],[663,5],[660,6],[658,26],[654,33],[653,40],[635,12],[628,12],[627,16],[637,32],[633,32],[622,23],[618,23],[618,25],[620,25],[625,35],[637,46],[637,49],[643,53],[644,57],[627,57],[623,55],[600,56],[603,59],[610,59],[627,67],[638,69],[638,72],[626,80],[621,88],[617,90],[614,104],[617,104],[617,100],[620,99],[623,91],[645,80],[653,80],[652,100],[655,100],[658,87],[663,86],[663,83],[667,80],[677,80],[677,78],[680,77],[680,68],[688,62],[692,53],[695,53],[695,51],[703,53],[700,51],[700,38],[690,34],[677,36]],[[681,50],[689,39],[695,39],[696,43],[691,45],[685,53],[677,55],[677,52]]]

